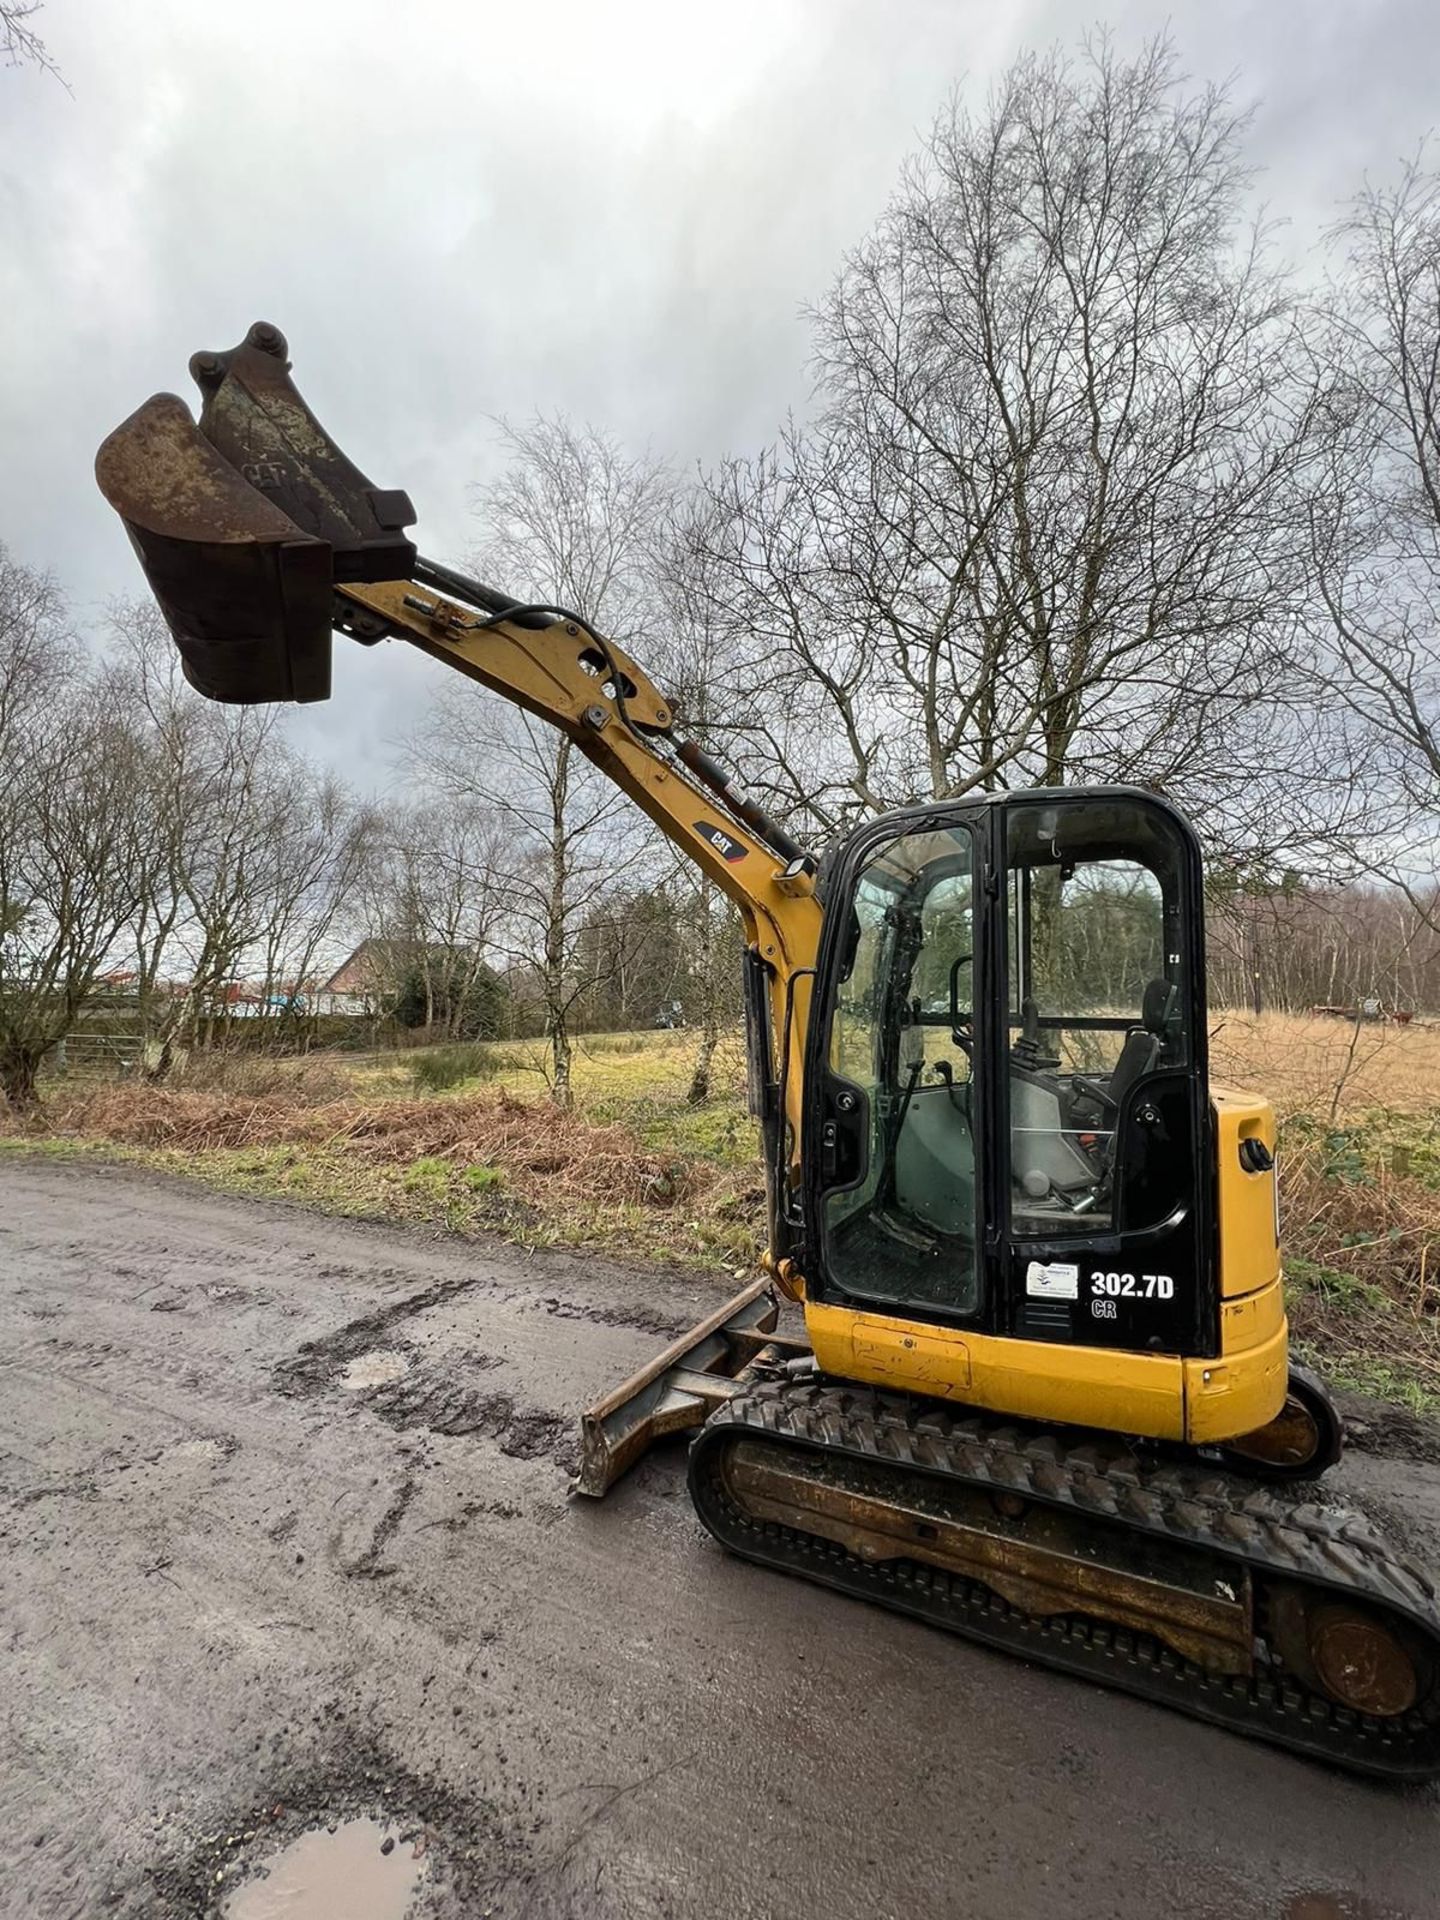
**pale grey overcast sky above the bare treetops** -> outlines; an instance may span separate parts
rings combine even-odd
[[[1100,17],[1258,102],[1302,259],[1438,111],[1436,0],[50,0],[69,92],[0,69],[0,540],[84,624],[138,593],[94,449],[253,319],[438,559],[492,415],[753,449],[806,401],[803,301],[948,90]],[[378,785],[434,678],[336,641],[296,733]]]

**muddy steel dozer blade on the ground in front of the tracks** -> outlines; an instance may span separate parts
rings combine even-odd
[[[755,1281],[699,1327],[616,1386],[580,1417],[580,1473],[572,1494],[599,1500],[641,1453],[666,1434],[701,1427],[714,1407],[756,1379],[760,1367],[810,1352],[808,1340],[778,1334],[780,1302]]]

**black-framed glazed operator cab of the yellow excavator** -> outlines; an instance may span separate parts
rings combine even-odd
[[[826,920],[818,1296],[1194,1338],[1208,1106],[1200,858],[1179,814],[1119,787],[914,810],[854,837]],[[1152,1311],[1092,1311],[1081,1279],[1137,1271]]]

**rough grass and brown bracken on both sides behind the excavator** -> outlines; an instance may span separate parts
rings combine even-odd
[[[1223,1066],[1231,1083],[1273,1085],[1281,1112],[1296,1342],[1338,1386],[1440,1413],[1436,1035],[1367,1035],[1375,1058],[1357,1079],[1344,1023],[1309,1023],[1308,1037],[1296,1025],[1231,1016]],[[0,1150],[100,1154],[357,1219],[716,1275],[755,1261],[764,1188],[737,1043],[716,1056],[714,1096],[689,1106],[693,1037],[589,1037],[572,1114],[545,1098],[536,1048],[447,1054],[419,1071],[417,1054],[326,1056],[234,1064],[175,1089],[58,1087],[38,1123],[0,1123]],[[1288,1068],[1267,1075],[1267,1056]],[[1390,1104],[1361,1106],[1354,1089],[1380,1085],[1380,1068]]]

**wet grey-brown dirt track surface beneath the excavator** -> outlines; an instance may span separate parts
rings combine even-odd
[[[714,1302],[0,1165],[6,1920],[204,1914],[355,1812],[436,1920],[1440,1914],[1434,1789],[743,1567],[674,1450],[566,1503],[578,1409]],[[1438,1467],[1342,1471],[1440,1559]]]

